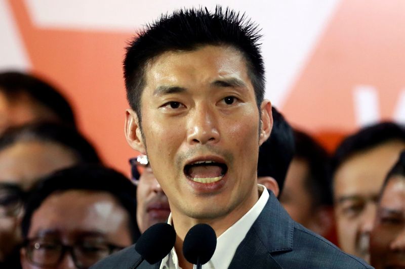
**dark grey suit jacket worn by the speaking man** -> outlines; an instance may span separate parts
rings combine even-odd
[[[140,255],[134,246],[123,249],[91,268],[127,269]],[[138,268],[158,269],[160,262],[143,261]],[[295,222],[270,192],[269,200],[239,244],[229,268],[372,268],[363,260]],[[216,268],[222,269],[222,268]]]

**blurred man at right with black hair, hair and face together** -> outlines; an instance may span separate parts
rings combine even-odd
[[[392,122],[347,137],[333,157],[333,194],[339,245],[370,261],[369,237],[385,175],[405,149],[405,130]]]

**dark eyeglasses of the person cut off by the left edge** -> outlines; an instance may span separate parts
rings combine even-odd
[[[22,212],[26,193],[15,184],[0,184],[0,218],[13,217]]]

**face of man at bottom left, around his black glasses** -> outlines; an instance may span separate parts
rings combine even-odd
[[[127,211],[110,194],[85,190],[50,195],[32,214],[28,238],[36,237],[66,245],[84,238],[123,247],[132,244]],[[25,249],[21,263],[24,269],[41,268],[28,261]],[[70,254],[65,254],[58,268],[76,268]]]

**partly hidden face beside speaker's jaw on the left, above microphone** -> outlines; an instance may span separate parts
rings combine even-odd
[[[141,233],[156,223],[167,221],[169,201],[150,167],[145,167],[139,177],[136,197],[136,218]]]

